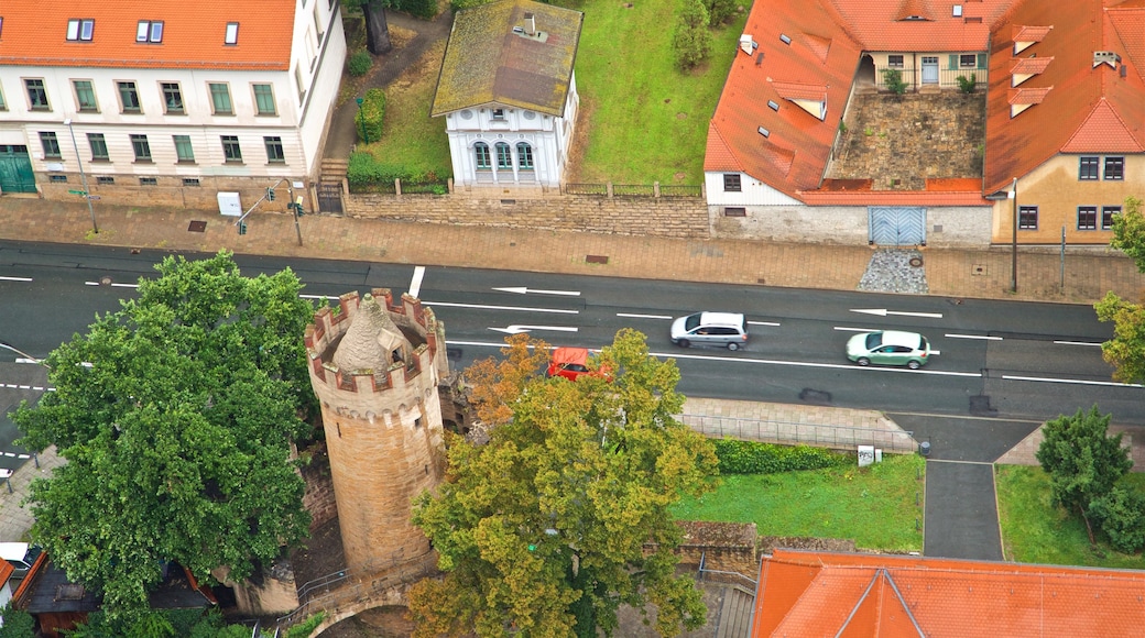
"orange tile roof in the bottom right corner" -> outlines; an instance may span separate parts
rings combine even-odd
[[[753,638],[1139,636],[1145,572],[776,550]]]

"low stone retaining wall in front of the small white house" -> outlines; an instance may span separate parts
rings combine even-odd
[[[350,194],[344,206],[354,217],[402,222],[708,238],[708,206],[702,198]]]

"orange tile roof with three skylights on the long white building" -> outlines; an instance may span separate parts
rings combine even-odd
[[[11,0],[0,6],[0,65],[289,70],[297,0]],[[95,21],[90,41],[68,41],[68,21]],[[137,43],[140,21],[164,23],[160,43]],[[227,46],[227,23],[238,43]]]

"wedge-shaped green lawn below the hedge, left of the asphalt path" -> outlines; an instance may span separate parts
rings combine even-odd
[[[862,470],[832,468],[780,474],[733,474],[716,492],[688,499],[684,520],[755,523],[760,535],[851,539],[863,549],[921,551],[925,461],[889,455]],[[915,504],[916,495],[918,504]]]

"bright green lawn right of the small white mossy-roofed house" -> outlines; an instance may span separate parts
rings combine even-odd
[[[569,181],[702,183],[708,121],[747,13],[714,31],[708,64],[685,74],[672,63],[677,0],[558,3],[584,11],[576,61],[583,154]]]

